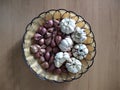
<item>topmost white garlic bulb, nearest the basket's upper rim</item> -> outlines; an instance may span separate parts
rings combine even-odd
[[[74,32],[75,21],[73,19],[70,19],[70,18],[64,18],[60,22],[60,27],[61,27],[61,31],[63,33],[70,34],[70,33]]]

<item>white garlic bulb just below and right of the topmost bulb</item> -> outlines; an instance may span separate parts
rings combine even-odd
[[[72,39],[76,43],[82,43],[82,42],[84,42],[87,39],[86,33],[84,32],[84,29],[76,27],[75,28],[75,32],[72,34]]]

